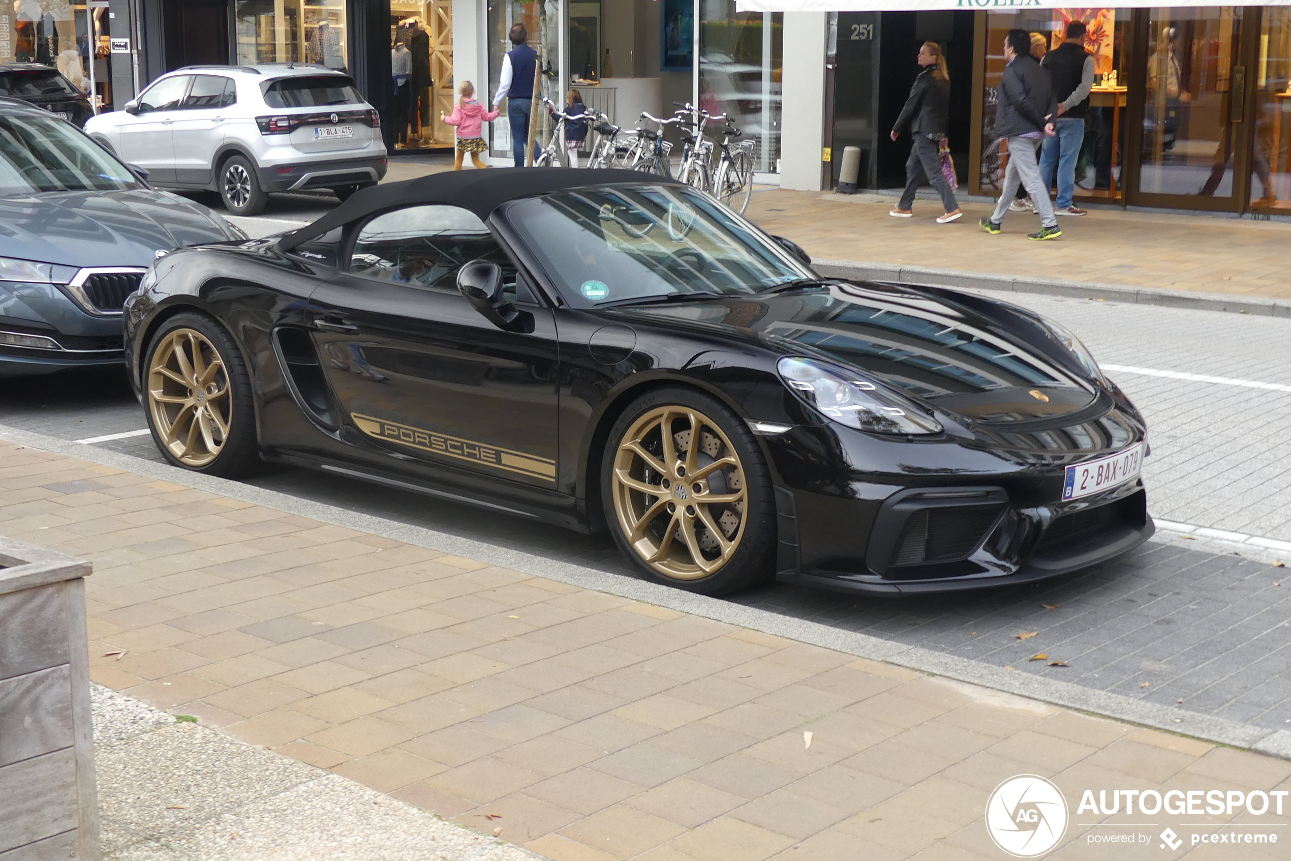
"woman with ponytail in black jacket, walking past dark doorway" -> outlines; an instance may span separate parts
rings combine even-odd
[[[905,194],[901,195],[896,209],[888,214],[893,218],[913,216],[914,195],[927,178],[941,195],[941,203],[946,208],[945,213],[937,216],[937,223],[946,225],[963,216],[963,212],[955,201],[950,181],[941,172],[941,150],[950,114],[950,76],[946,74],[946,58],[941,53],[941,45],[935,41],[923,43],[919,48],[919,66],[923,70],[914,79],[910,98],[905,101],[905,107],[892,127],[893,141],[909,127],[914,145],[905,163]]]

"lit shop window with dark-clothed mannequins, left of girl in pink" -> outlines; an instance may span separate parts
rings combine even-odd
[[[392,0],[390,44],[395,148],[453,146],[453,127],[439,121],[453,111],[452,0]]]

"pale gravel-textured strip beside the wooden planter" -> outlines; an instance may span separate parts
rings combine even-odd
[[[306,765],[92,685],[106,861],[538,861]]]

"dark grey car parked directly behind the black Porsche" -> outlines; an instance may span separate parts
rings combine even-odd
[[[0,98],[0,377],[120,365],[121,303],[158,253],[241,238],[71,124]]]

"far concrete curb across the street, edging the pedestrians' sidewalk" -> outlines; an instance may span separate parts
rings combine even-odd
[[[821,258],[815,261],[812,266],[817,272],[829,278],[931,284],[933,287],[1004,290],[1010,293],[1041,293],[1043,296],[1068,296],[1078,299],[1104,299],[1131,305],[1159,305],[1172,309],[1291,318],[1291,299],[1201,293],[1197,290],[1170,290],[1155,287],[1128,287],[1124,284],[1090,284],[1086,281],[1062,281],[1053,278],[968,272],[957,268],[902,266],[900,263],[875,263],[870,261]]]

